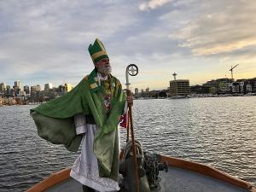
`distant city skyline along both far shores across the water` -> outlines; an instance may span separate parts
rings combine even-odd
[[[165,90],[145,90],[138,88],[131,89],[135,98],[193,98],[206,96],[256,96],[256,78],[253,79],[212,79],[202,85],[189,85],[189,79],[176,79],[176,73],[173,73],[174,79],[171,80],[170,87]],[[0,83],[0,106],[27,104],[29,102],[47,102],[58,96],[64,96],[67,92],[73,90],[72,84],[61,84],[54,87],[53,84],[44,84],[44,90],[39,84],[29,87],[22,87],[22,82],[16,80],[15,85]],[[23,89],[24,88],[24,89]]]

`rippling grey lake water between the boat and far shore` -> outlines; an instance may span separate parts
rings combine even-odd
[[[24,191],[79,155],[38,137],[29,116],[34,107],[0,108],[0,191]],[[207,163],[256,185],[256,96],[137,100],[133,117],[144,149]]]

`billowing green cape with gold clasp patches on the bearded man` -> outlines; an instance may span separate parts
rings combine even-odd
[[[118,123],[125,106],[125,94],[119,80],[110,75],[110,111],[102,101],[102,85],[96,70],[66,95],[31,109],[38,127],[38,135],[55,144],[64,144],[69,151],[77,151],[82,135],[77,135],[73,116],[78,113],[92,115],[99,131],[96,132],[93,151],[98,160],[100,177],[118,180],[119,138]]]

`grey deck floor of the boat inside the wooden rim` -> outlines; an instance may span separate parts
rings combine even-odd
[[[159,192],[246,192],[230,183],[224,183],[216,178],[207,177],[197,172],[190,172],[177,167],[169,167],[169,172],[160,172]],[[56,184],[46,192],[83,192],[81,183],[73,178]]]

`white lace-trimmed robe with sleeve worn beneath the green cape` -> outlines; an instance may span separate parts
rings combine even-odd
[[[119,183],[111,178],[99,177],[98,161],[93,153],[93,141],[97,131],[96,125],[86,124],[83,114],[74,117],[77,134],[84,134],[82,150],[75,160],[70,176],[96,191],[118,191]]]

